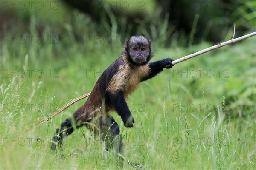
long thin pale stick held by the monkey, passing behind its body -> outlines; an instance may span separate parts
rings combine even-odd
[[[204,54],[204,53],[206,53],[206,52],[208,52],[208,51],[212,51],[212,50],[214,50],[214,49],[216,49],[216,48],[224,47],[224,46],[229,45],[229,44],[231,44],[231,43],[235,43],[235,42],[238,42],[238,41],[241,41],[241,40],[244,40],[244,39],[246,39],[246,38],[249,38],[249,37],[252,37],[252,36],[256,35],[256,32],[253,32],[253,33],[250,33],[250,34],[247,34],[247,35],[244,35],[244,36],[242,36],[242,37],[238,37],[238,38],[235,38],[235,39],[234,39],[234,36],[235,36],[235,27],[236,27],[236,24],[234,25],[234,34],[233,34],[233,37],[232,37],[231,40],[226,41],[226,42],[222,42],[221,44],[214,45],[214,46],[212,46],[212,47],[209,47],[209,48],[206,48],[206,49],[204,49],[204,50],[198,51],[198,52],[196,52],[196,53],[194,53],[194,54],[190,54],[190,55],[188,55],[188,56],[184,56],[184,57],[182,57],[182,58],[180,58],[180,59],[176,59],[176,60],[174,60],[174,61],[172,62],[172,64],[175,65],[175,64],[177,64],[177,63],[179,63],[179,62],[183,62],[183,61],[185,61],[185,60],[187,60],[187,59],[190,59],[190,58],[192,58],[192,57],[195,57],[195,56]],[[166,66],[168,66],[168,65],[166,65]],[[78,97],[78,98],[76,98],[76,99],[71,100],[71,102],[68,102],[68,103],[66,103],[65,105],[61,106],[61,108],[59,108],[57,111],[55,111],[54,113],[52,113],[50,116],[48,116],[48,117],[42,119],[42,120],[41,120],[40,122],[38,122],[38,123],[35,123],[32,128],[35,128],[35,127],[37,127],[37,126],[43,124],[44,122],[47,122],[48,120],[52,119],[52,117],[56,116],[58,113],[60,113],[60,112],[63,111],[64,109],[68,108],[70,105],[72,105],[72,104],[74,104],[75,102],[77,102],[77,101],[79,101],[79,100],[81,100],[81,99],[84,99],[84,98],[86,98],[86,97],[88,97],[88,96],[90,96],[90,93],[84,94],[83,96],[80,96],[80,97]],[[26,133],[27,133],[29,130],[30,130],[30,129],[27,129],[27,130],[26,130]]]

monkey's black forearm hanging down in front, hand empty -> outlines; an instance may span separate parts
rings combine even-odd
[[[134,118],[131,115],[131,111],[125,102],[125,97],[122,91],[117,91],[116,93],[108,92],[111,104],[113,105],[115,111],[121,116],[125,127],[133,127]]]

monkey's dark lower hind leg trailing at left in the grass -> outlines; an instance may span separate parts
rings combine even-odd
[[[77,127],[77,125],[72,125],[72,123],[75,123],[75,121],[72,121],[73,118],[68,118],[65,120],[65,122],[63,122],[61,124],[61,128],[60,129],[56,129],[56,133],[55,135],[52,137],[52,146],[51,149],[53,151],[56,150],[56,147],[58,146],[59,148],[61,148],[62,146],[62,142],[63,142],[63,138],[65,136],[70,135],[71,133],[73,133],[74,131],[74,127]]]

